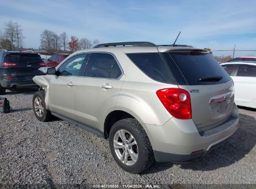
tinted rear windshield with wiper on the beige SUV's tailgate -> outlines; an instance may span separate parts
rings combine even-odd
[[[214,85],[231,78],[209,54],[169,53],[188,85]]]

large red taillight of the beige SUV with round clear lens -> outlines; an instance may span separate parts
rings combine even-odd
[[[192,118],[191,99],[186,90],[180,88],[165,88],[156,91],[156,95],[164,105],[164,108],[166,108],[174,118]]]

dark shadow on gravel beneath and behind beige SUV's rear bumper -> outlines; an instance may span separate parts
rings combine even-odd
[[[207,154],[206,157],[180,164],[179,167],[201,171],[216,170],[217,168],[236,164],[249,154],[256,144],[256,120],[254,117],[245,114],[239,116],[239,127],[225,144]],[[161,172],[172,166],[171,163],[154,163],[143,175]]]

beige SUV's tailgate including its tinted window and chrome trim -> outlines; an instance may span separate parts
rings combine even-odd
[[[192,120],[199,132],[227,121],[234,104],[234,85],[227,72],[206,50],[170,50],[168,54],[186,80],[186,85],[178,86],[190,94]]]

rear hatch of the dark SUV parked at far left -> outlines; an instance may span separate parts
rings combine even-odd
[[[35,75],[42,75],[38,69],[45,63],[36,53],[9,53],[4,58],[8,71],[6,74],[15,76],[18,80],[32,80]]]

